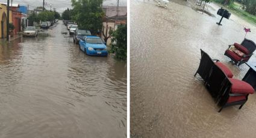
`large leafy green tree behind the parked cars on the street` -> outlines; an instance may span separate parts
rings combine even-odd
[[[102,0],[72,0],[72,19],[80,29],[87,29],[96,34],[102,28]]]

